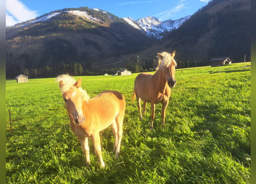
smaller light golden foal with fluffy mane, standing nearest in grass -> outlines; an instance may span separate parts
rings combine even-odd
[[[80,78],[75,81],[69,75],[59,75],[56,78],[62,91],[62,97],[70,117],[70,127],[78,137],[86,158],[86,166],[90,164],[88,137],[93,141],[95,154],[100,160],[101,167],[105,163],[101,154],[100,131],[109,127],[114,133],[114,150],[119,156],[123,135],[123,119],[125,99],[118,91],[104,91],[90,98],[82,89]]]

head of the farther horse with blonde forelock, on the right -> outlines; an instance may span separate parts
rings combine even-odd
[[[168,86],[175,87],[176,85],[175,67],[177,66],[177,63],[174,60],[175,51],[171,53],[161,52],[161,53],[158,53],[158,56],[161,59],[158,68],[164,71]]]

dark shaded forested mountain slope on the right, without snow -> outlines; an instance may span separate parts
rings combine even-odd
[[[157,52],[175,50],[181,68],[207,65],[211,57],[241,62],[246,55],[250,60],[250,21],[250,0],[212,0],[179,28],[165,32],[161,41],[136,55],[152,60]]]

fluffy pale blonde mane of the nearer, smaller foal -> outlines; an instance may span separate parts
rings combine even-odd
[[[63,82],[63,86],[60,89],[62,91],[62,94],[65,93],[67,90],[70,89],[75,84],[75,79],[72,78],[72,76],[67,75],[67,74],[62,74],[56,77],[56,82]],[[82,87],[79,87],[79,90],[83,94],[83,98],[87,101],[89,99],[89,95],[87,94],[86,90],[83,90]]]

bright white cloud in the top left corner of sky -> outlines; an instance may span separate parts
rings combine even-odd
[[[36,11],[30,10],[18,0],[6,1],[6,26],[12,26],[18,22],[24,22],[36,18]]]

